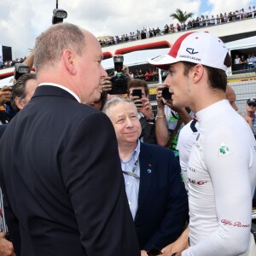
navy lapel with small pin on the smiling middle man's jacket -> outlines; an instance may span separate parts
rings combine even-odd
[[[137,207],[136,218],[140,212],[141,207],[143,207],[145,200],[147,199],[148,192],[150,191],[151,183],[154,179],[155,158],[150,153],[150,150],[148,150],[148,145],[144,143],[141,143],[139,163],[140,163],[140,187],[139,187],[139,194],[138,194],[138,207]]]

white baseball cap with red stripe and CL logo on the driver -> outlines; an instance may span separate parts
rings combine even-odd
[[[224,60],[227,53],[228,50],[218,37],[208,32],[188,32],[177,38],[167,55],[149,58],[148,63],[168,69],[172,63],[188,61],[226,71]]]

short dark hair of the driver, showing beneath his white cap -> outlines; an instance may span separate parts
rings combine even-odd
[[[224,65],[227,67],[230,67],[232,63],[231,57],[229,53],[227,53],[225,59],[224,59]],[[196,63],[183,61],[184,65],[184,75],[188,76],[189,71],[192,67],[195,67],[197,65]],[[215,67],[204,67],[207,69],[208,74],[208,84],[212,89],[219,89],[226,91],[227,86],[227,74],[222,69],[218,69]]]

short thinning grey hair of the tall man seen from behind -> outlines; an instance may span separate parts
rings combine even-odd
[[[78,55],[84,53],[85,38],[79,26],[58,23],[50,26],[36,40],[34,67],[36,71],[45,66],[54,66],[61,60],[64,49],[73,49]]]

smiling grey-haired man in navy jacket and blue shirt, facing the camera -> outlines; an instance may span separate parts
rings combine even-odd
[[[116,97],[103,112],[113,123],[125,189],[137,229],[141,255],[175,241],[185,227],[188,200],[171,149],[141,143],[142,128],[132,102]]]

